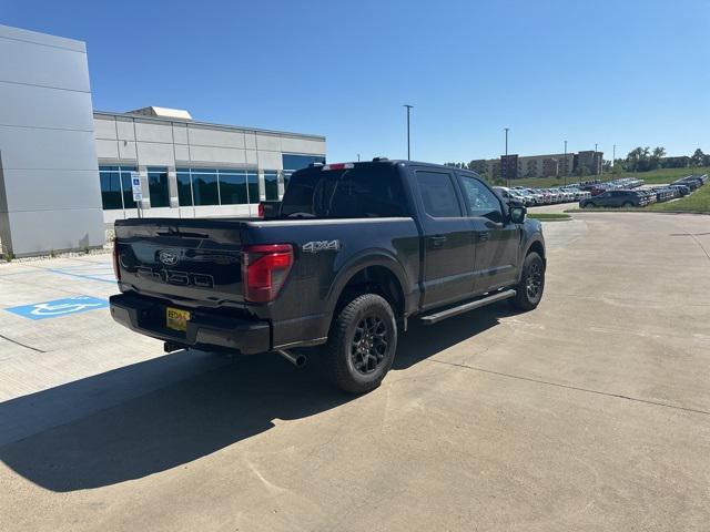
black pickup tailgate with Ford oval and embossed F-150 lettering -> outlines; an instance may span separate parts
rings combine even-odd
[[[240,304],[244,219],[144,218],[115,224],[125,288],[187,306]],[[129,285],[129,286],[126,286]]]

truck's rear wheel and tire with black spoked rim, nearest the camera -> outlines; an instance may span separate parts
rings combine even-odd
[[[325,377],[351,393],[374,390],[392,367],[397,324],[389,304],[376,294],[348,303],[335,317],[321,364]]]

